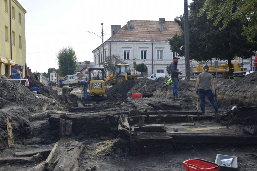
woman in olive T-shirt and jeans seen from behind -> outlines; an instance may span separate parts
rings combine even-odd
[[[214,101],[214,98],[213,98],[214,96],[216,96],[216,91],[213,84],[213,76],[210,73],[208,73],[209,66],[205,65],[203,67],[203,70],[204,72],[198,75],[197,82],[196,82],[196,94],[198,95],[199,93],[199,97],[201,100],[200,107],[201,107],[202,114],[206,114],[205,113],[205,96],[208,97],[214,110],[218,114],[220,114],[217,103]]]

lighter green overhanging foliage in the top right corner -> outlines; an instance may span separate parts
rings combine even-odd
[[[207,13],[207,19],[214,19],[214,26],[225,29],[233,20],[240,20],[243,25],[242,34],[249,41],[257,39],[257,3],[256,0],[206,0],[199,10],[198,16]]]

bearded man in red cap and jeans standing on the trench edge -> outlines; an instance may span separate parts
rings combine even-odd
[[[179,88],[179,74],[181,75],[182,72],[178,71],[178,56],[173,57],[173,62],[170,63],[170,73],[171,73],[171,80],[173,82],[173,100],[182,100],[179,98],[178,95],[178,88]]]

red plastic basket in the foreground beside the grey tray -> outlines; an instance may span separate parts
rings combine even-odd
[[[220,166],[203,159],[190,159],[183,162],[186,171],[217,171]]]

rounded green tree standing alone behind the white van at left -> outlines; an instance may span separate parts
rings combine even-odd
[[[57,53],[59,74],[62,76],[75,74],[77,71],[77,56],[71,46],[63,48]]]

